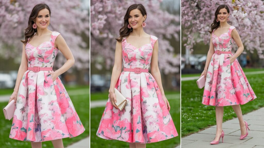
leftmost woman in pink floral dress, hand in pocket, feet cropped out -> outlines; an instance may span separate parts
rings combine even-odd
[[[50,8],[37,4],[29,16],[23,42],[22,60],[9,102],[15,100],[10,138],[31,141],[33,148],[42,141],[63,147],[62,138],[83,133],[84,127],[58,76],[73,64],[73,55],[59,32],[50,31]],[[67,61],[52,70],[58,50]],[[20,85],[19,85],[20,84]],[[8,103],[9,103],[8,102]]]

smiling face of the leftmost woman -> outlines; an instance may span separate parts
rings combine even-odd
[[[40,29],[45,29],[49,26],[49,22],[50,22],[49,10],[46,8],[40,10],[35,19],[35,23],[37,27]]]

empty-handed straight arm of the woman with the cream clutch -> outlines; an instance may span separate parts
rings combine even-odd
[[[161,73],[159,71],[159,66],[158,66],[158,50],[159,50],[159,43],[157,40],[153,47],[153,53],[152,53],[151,63],[150,63],[150,72],[158,84],[159,90],[161,91],[161,95],[166,104],[166,107],[168,108],[168,110],[170,110],[171,107],[169,106],[169,102],[167,98],[165,97],[164,90],[162,87]]]

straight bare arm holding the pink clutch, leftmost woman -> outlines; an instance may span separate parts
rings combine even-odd
[[[19,88],[20,82],[22,80],[22,77],[23,77],[24,73],[27,71],[27,58],[26,58],[25,48],[26,48],[26,46],[25,46],[25,44],[23,44],[23,46],[22,46],[23,50],[22,50],[21,64],[19,66],[18,73],[17,73],[16,85],[15,85],[15,88],[14,88],[14,92],[12,93],[12,95],[10,96],[10,99],[9,99],[9,102],[14,99],[15,100],[15,104],[16,104],[17,93],[18,93],[18,88]]]

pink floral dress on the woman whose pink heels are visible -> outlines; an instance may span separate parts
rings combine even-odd
[[[219,37],[212,33],[214,50],[231,51],[234,39],[231,37],[234,26]],[[238,60],[230,64],[233,54],[213,54],[210,61],[202,104],[211,106],[230,106],[245,104],[256,97],[248,83]]]

